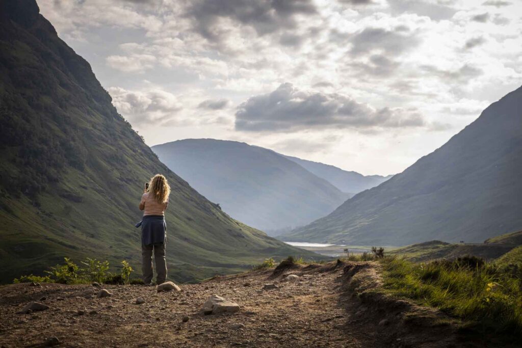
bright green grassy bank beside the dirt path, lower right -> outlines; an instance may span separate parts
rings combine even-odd
[[[438,308],[484,332],[522,335],[522,281],[494,263],[381,259],[383,291]]]

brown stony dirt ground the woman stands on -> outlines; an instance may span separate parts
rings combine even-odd
[[[362,347],[377,344],[378,326],[364,332],[342,300],[342,269],[335,264],[284,271],[255,271],[181,285],[182,292],[156,287],[105,286],[113,295],[68,297],[96,289],[88,285],[14,284],[0,287],[0,346],[106,347]],[[286,274],[299,279],[280,282]],[[280,287],[262,290],[266,283]],[[204,315],[200,309],[217,294],[238,303],[235,314]],[[144,304],[137,305],[136,298]],[[44,299],[42,299],[44,298]],[[30,301],[50,308],[16,314]],[[349,307],[348,307],[349,308]],[[79,315],[78,310],[84,311]],[[182,321],[184,316],[189,320]],[[239,329],[233,324],[242,324]]]

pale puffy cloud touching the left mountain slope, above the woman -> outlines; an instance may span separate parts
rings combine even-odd
[[[176,114],[182,110],[176,96],[161,89],[143,92],[111,87],[109,94],[118,112],[133,125],[172,123]]]

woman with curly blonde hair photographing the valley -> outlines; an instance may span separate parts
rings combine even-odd
[[[141,271],[143,281],[149,285],[152,282],[152,251],[156,261],[156,283],[161,284],[167,279],[167,261],[165,261],[165,241],[167,224],[165,224],[165,209],[169,205],[170,186],[167,179],[156,174],[145,185],[145,193],[141,196],[139,210],[143,210],[141,223]]]

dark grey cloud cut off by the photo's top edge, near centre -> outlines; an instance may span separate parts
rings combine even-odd
[[[199,0],[187,9],[186,15],[195,20],[196,31],[211,41],[220,41],[223,33],[217,28],[218,19],[230,18],[253,27],[258,35],[296,27],[296,14],[314,14],[311,0]]]

